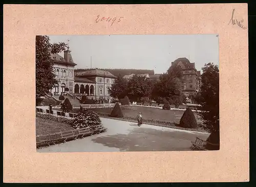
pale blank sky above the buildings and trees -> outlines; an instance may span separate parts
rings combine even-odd
[[[75,68],[149,69],[164,73],[177,58],[201,70],[219,65],[219,38],[198,35],[50,35],[51,43],[69,43]],[[69,42],[68,42],[69,40]],[[59,55],[63,57],[63,52]]]

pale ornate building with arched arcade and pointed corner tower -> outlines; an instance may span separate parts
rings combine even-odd
[[[52,54],[54,72],[58,84],[50,91],[53,95],[69,93],[73,96],[87,95],[91,99],[112,100],[108,88],[114,83],[116,76],[108,71],[88,69],[74,74],[74,63],[69,47],[64,51],[64,58]]]

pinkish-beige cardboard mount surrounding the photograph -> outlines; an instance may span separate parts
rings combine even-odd
[[[247,4],[4,5],[4,181],[248,181],[248,30],[233,9],[247,27]],[[36,153],[35,35],[110,34],[219,34],[220,151]]]

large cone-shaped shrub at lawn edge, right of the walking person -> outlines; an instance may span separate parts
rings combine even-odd
[[[185,112],[183,113],[180,123],[177,125],[180,127],[185,127],[185,128],[196,128],[197,127],[197,120],[194,115],[194,112],[191,111],[190,108],[187,108]]]

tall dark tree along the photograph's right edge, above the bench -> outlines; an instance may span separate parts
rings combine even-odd
[[[211,133],[211,143],[220,143],[219,118],[219,68],[213,63],[205,64],[202,68],[202,84],[198,102],[202,105],[199,116],[204,129]]]

